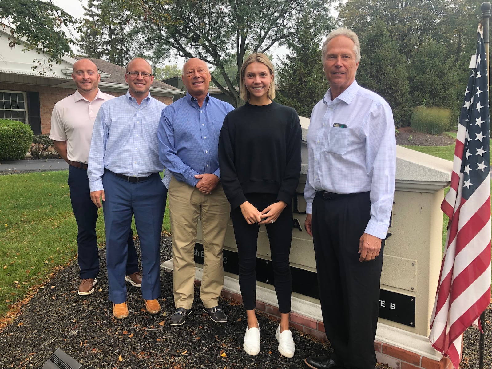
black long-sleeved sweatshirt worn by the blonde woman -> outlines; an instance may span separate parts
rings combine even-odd
[[[289,205],[301,176],[302,130],[296,111],[272,102],[229,112],[218,141],[220,180],[233,209],[247,193],[272,193]]]

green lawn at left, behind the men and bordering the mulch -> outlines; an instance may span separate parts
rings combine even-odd
[[[0,316],[54,269],[76,262],[77,224],[67,176],[68,171],[0,176]],[[99,215],[97,241],[103,247],[102,209]],[[167,209],[163,230],[170,230]]]

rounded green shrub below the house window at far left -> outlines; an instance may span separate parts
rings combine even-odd
[[[25,123],[0,119],[0,160],[24,159],[33,135]]]

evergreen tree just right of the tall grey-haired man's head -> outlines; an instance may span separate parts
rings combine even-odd
[[[396,127],[408,125],[410,96],[405,57],[382,21],[369,27],[360,43],[362,57],[357,69],[357,82],[388,101]]]

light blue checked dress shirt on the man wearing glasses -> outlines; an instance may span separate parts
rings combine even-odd
[[[134,177],[162,172],[157,127],[165,107],[166,104],[152,98],[150,92],[140,105],[129,92],[101,105],[89,152],[91,191],[104,189],[101,180],[104,169]]]

